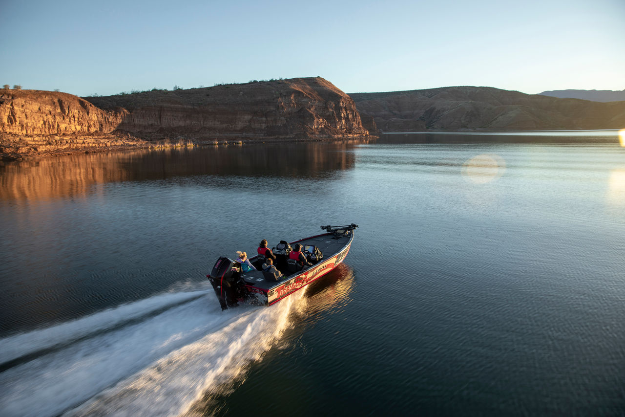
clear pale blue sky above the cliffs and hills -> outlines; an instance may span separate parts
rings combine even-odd
[[[625,89],[625,0],[0,0],[0,85]]]

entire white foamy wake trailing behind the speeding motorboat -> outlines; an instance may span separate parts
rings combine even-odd
[[[280,339],[302,295],[222,312],[212,290],[164,294],[0,339],[0,409],[4,416],[190,413]]]

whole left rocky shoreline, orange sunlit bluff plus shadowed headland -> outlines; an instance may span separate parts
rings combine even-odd
[[[89,98],[0,90],[5,155],[368,134],[354,101],[318,77]]]

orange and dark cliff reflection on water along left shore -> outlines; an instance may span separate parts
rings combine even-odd
[[[0,199],[79,197],[98,183],[192,175],[331,177],[354,167],[359,141],[271,143],[88,153],[26,160],[0,167]]]

